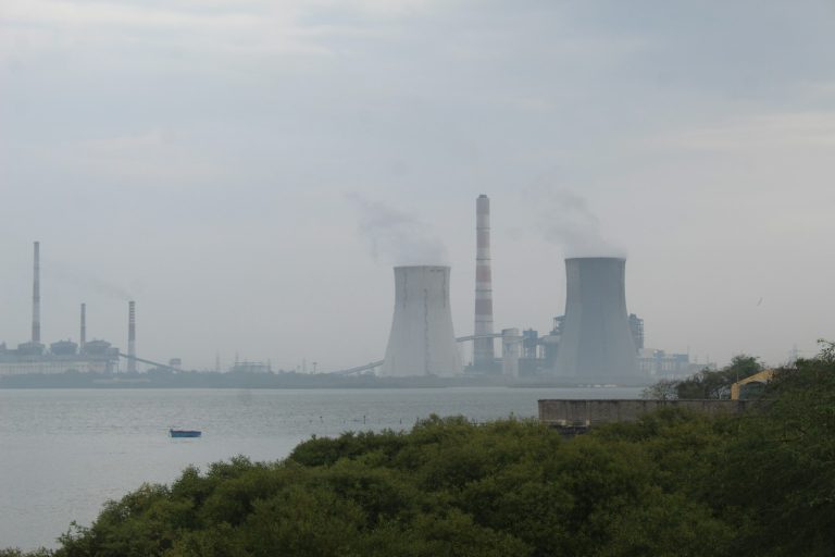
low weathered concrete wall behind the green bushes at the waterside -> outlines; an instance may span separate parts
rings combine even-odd
[[[631,422],[659,408],[685,408],[708,416],[741,412],[751,400],[539,400],[539,421],[551,425]]]

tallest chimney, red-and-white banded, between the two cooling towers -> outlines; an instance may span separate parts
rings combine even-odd
[[[490,270],[490,199],[482,194],[475,200],[475,329],[478,335],[493,334],[493,272]],[[473,366],[490,370],[494,361],[493,338],[473,342]]]

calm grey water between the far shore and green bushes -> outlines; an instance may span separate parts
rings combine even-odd
[[[76,520],[188,465],[286,457],[310,437],[408,429],[429,413],[536,416],[539,398],[637,398],[640,388],[0,391],[0,548],[54,546]],[[203,437],[172,440],[170,426]]]

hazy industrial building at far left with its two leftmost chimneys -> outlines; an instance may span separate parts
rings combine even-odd
[[[59,341],[49,346],[40,341],[40,243],[35,242],[32,337],[28,342],[9,348],[0,343],[0,375],[26,373],[113,373],[119,371],[120,351],[107,341],[87,342],[87,306],[82,304],[80,344]],[[130,302],[133,305],[133,302]],[[132,306],[133,307],[133,306]],[[132,309],[133,312],[133,309]],[[133,313],[132,313],[133,314]]]

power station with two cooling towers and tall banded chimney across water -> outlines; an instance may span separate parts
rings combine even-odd
[[[476,199],[475,320],[472,336],[456,339],[448,267],[395,268],[395,312],[383,376],[504,375],[564,384],[640,384],[659,373],[686,374],[689,358],[646,354],[644,321],[626,309],[626,260],[565,260],[565,313],[545,336],[502,329],[494,333],[490,201]],[[429,263],[429,262],[427,262]],[[501,339],[501,356],[495,339]],[[461,367],[456,341],[473,343],[472,363]],[[674,366],[671,366],[673,363]],[[372,369],[371,364],[360,370]],[[351,371],[356,371],[353,369]]]

